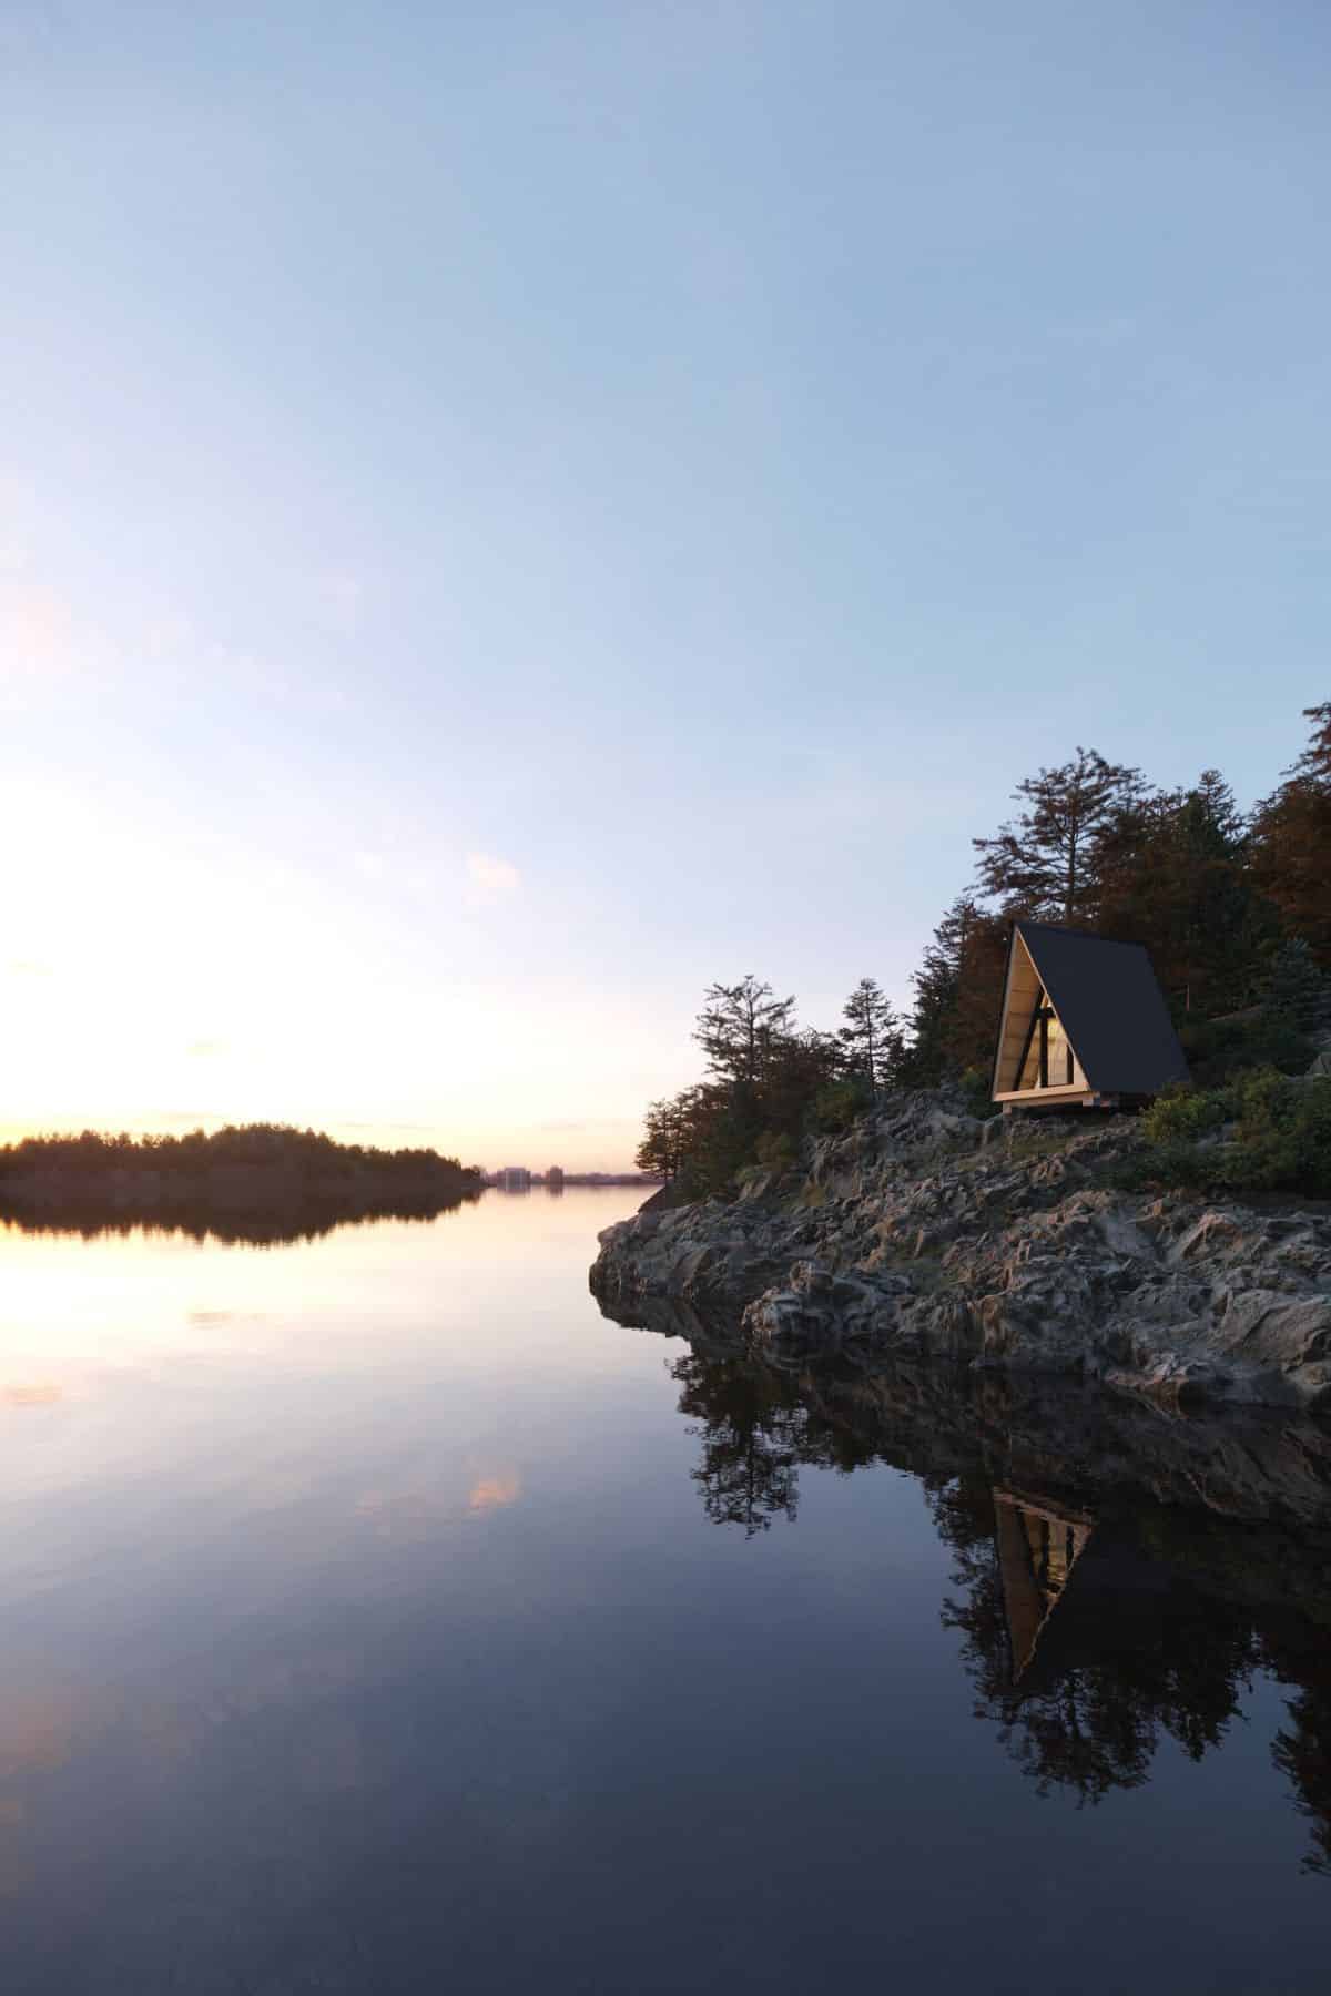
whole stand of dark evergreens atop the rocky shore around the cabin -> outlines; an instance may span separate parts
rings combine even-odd
[[[1018,918],[1143,942],[1193,1072],[1227,1072],[1235,1036],[1253,1064],[1297,1058],[1299,1028],[1331,994],[1331,701],[1303,715],[1307,747],[1247,814],[1215,768],[1165,790],[1096,748],[1022,780],[1014,816],[972,840],[974,880],[938,922],[904,1014],[870,976],[836,1032],[800,1026],[794,998],[752,974],[708,986],[694,1028],[706,1074],[649,1106],[639,1168],[724,1196],[884,1088],[958,1078],[988,1100]],[[1225,1024],[1253,1008],[1265,1016]]]

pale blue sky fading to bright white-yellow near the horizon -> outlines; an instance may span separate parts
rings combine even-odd
[[[627,1162],[1331,693],[1313,4],[0,18],[10,1124]],[[8,966],[8,968],[4,968]]]

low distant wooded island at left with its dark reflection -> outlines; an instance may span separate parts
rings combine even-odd
[[[337,1144],[315,1130],[243,1124],[186,1136],[30,1136],[0,1148],[0,1218],[148,1222],[233,1232],[239,1218],[421,1220],[479,1198],[485,1174],[437,1150]]]

